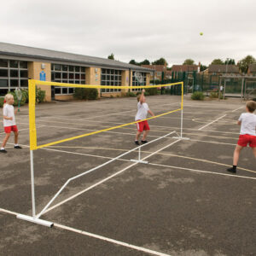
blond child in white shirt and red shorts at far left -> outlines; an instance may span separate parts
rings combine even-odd
[[[18,128],[15,122],[15,114],[18,111],[18,108],[15,110],[13,104],[15,102],[15,98],[11,94],[7,94],[4,99],[6,103],[3,105],[3,128],[5,131],[5,137],[3,139],[2,147],[0,149],[0,153],[7,153],[5,150],[5,145],[9,140],[11,131],[15,133],[15,148],[20,149],[21,147],[18,145]]]

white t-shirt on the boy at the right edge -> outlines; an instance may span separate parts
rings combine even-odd
[[[241,121],[240,134],[249,134],[256,136],[256,114],[241,113],[238,121]]]

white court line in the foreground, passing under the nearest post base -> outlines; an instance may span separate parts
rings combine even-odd
[[[9,213],[9,214],[12,214],[12,215],[15,215],[15,216],[19,215],[18,212],[11,212],[11,211],[5,210],[3,208],[0,208],[0,212]],[[66,225],[54,223],[54,226],[59,228],[59,229],[62,229],[62,230],[69,230],[69,231],[79,233],[79,234],[84,235],[84,236],[90,236],[90,237],[93,237],[93,238],[96,238],[96,239],[99,239],[99,240],[102,240],[102,241],[108,241],[108,242],[117,244],[119,246],[129,247],[131,249],[134,249],[134,250],[137,250],[137,251],[140,251],[140,252],[149,253],[149,254],[158,255],[158,256],[171,256],[170,254],[160,253],[160,252],[157,252],[157,251],[154,251],[154,250],[147,249],[145,247],[138,247],[138,246],[132,245],[131,243],[127,243],[127,242],[124,242],[124,241],[118,241],[118,240],[115,240],[115,239],[112,239],[112,238],[108,238],[106,236],[99,236],[99,235],[96,235],[96,234],[93,234],[93,233],[90,233],[90,232],[87,232],[87,231],[73,229],[71,227],[67,227]]]

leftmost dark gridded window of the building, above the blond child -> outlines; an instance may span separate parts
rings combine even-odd
[[[0,95],[16,87],[28,87],[27,62],[0,59]]]

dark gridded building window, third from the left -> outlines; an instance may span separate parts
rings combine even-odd
[[[102,68],[102,85],[120,86],[122,84],[122,71]],[[117,92],[121,89],[102,89],[102,92]]]

